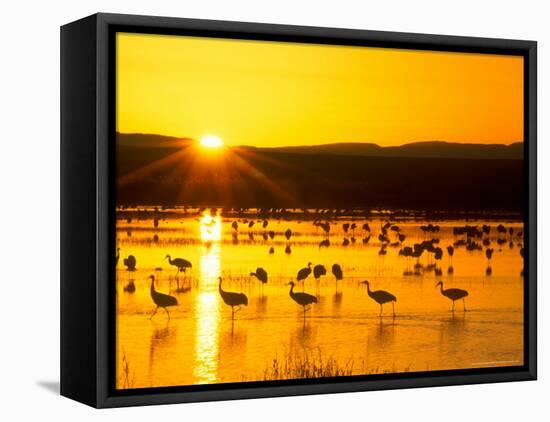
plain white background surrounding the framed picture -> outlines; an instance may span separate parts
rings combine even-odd
[[[539,42],[539,381],[95,411],[59,380],[59,26],[103,12],[532,39]],[[0,418],[517,421],[550,414],[548,2],[5,1],[0,24]],[[545,391],[546,390],[546,391]]]

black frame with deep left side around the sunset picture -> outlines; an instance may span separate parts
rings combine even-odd
[[[525,364],[314,380],[114,389],[114,34],[216,38],[513,54],[524,57]],[[534,380],[537,374],[534,41],[99,13],[61,28],[61,394],[119,407]]]

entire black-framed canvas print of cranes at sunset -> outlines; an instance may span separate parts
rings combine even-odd
[[[61,30],[61,393],[536,378],[536,43]]]

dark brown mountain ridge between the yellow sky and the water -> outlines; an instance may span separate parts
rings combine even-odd
[[[230,152],[206,156],[197,144],[191,138],[119,134],[117,203],[523,210],[524,164],[506,159],[521,157],[521,144],[228,147]]]

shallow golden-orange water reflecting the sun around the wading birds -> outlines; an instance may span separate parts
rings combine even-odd
[[[443,275],[424,271],[404,276],[415,260],[399,256],[397,246],[379,255],[381,221],[376,219],[368,220],[372,232],[364,244],[368,233],[361,226],[365,219],[332,220],[330,236],[326,236],[313,221],[269,220],[264,230],[261,220],[254,220],[254,227],[248,228],[242,218],[171,213],[166,219],[161,217],[155,228],[148,215],[128,222],[126,216],[131,213],[125,211],[117,222],[121,248],[116,286],[118,388],[263,380],[269,378],[274,359],[307,356],[336,362],[353,374],[523,363],[523,259],[519,253],[523,239],[516,234],[522,230],[517,221],[438,221],[441,231],[429,234],[420,230],[426,221],[399,221],[396,224],[406,235],[404,246],[435,237],[445,251],[437,263]],[[236,220],[235,238],[231,224]],[[358,228],[344,233],[346,222],[355,222]],[[499,223],[513,227],[515,234],[499,235]],[[446,246],[464,238],[453,236],[452,227],[464,224],[492,227],[485,236],[495,249],[492,275],[485,275],[484,250],[469,252],[464,247],[455,249],[454,274],[447,274]],[[288,228],[293,233],[290,240],[283,234]],[[264,240],[262,235],[269,230],[275,231],[275,237]],[[389,233],[394,242],[396,234]],[[499,237],[506,243],[497,245]],[[330,246],[319,247],[327,238]],[[344,238],[350,241],[348,246],[343,245]],[[285,253],[287,246],[290,254]],[[137,260],[134,272],[123,265],[129,254]],[[191,261],[193,268],[176,280],[177,270],[164,259],[167,254]],[[304,286],[295,287],[319,300],[304,318],[302,308],[289,297],[286,283],[295,280],[297,271],[308,262],[325,265],[327,275],[319,282],[310,275]],[[426,267],[434,260],[424,253],[420,262]],[[330,271],[333,263],[340,264],[344,272],[338,283]],[[257,267],[268,272],[266,285],[249,276]],[[156,289],[179,302],[169,308],[170,319],[163,309],[149,319],[155,308],[147,279],[151,274],[157,278]],[[220,276],[225,290],[248,296],[248,306],[234,319],[218,293]],[[391,304],[384,305],[379,317],[379,305],[360,284],[366,279],[372,290],[387,290],[397,297],[395,318]],[[124,290],[130,280],[136,287],[134,293]],[[435,288],[438,280],[445,288],[469,292],[467,312],[463,312],[462,301],[451,312],[451,301]]]

